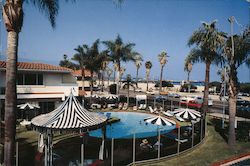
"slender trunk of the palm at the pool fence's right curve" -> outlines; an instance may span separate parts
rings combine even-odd
[[[210,75],[211,63],[206,63],[206,74],[205,74],[205,88],[204,88],[204,101],[202,105],[203,115],[208,111],[208,93],[209,93],[209,75]]]

